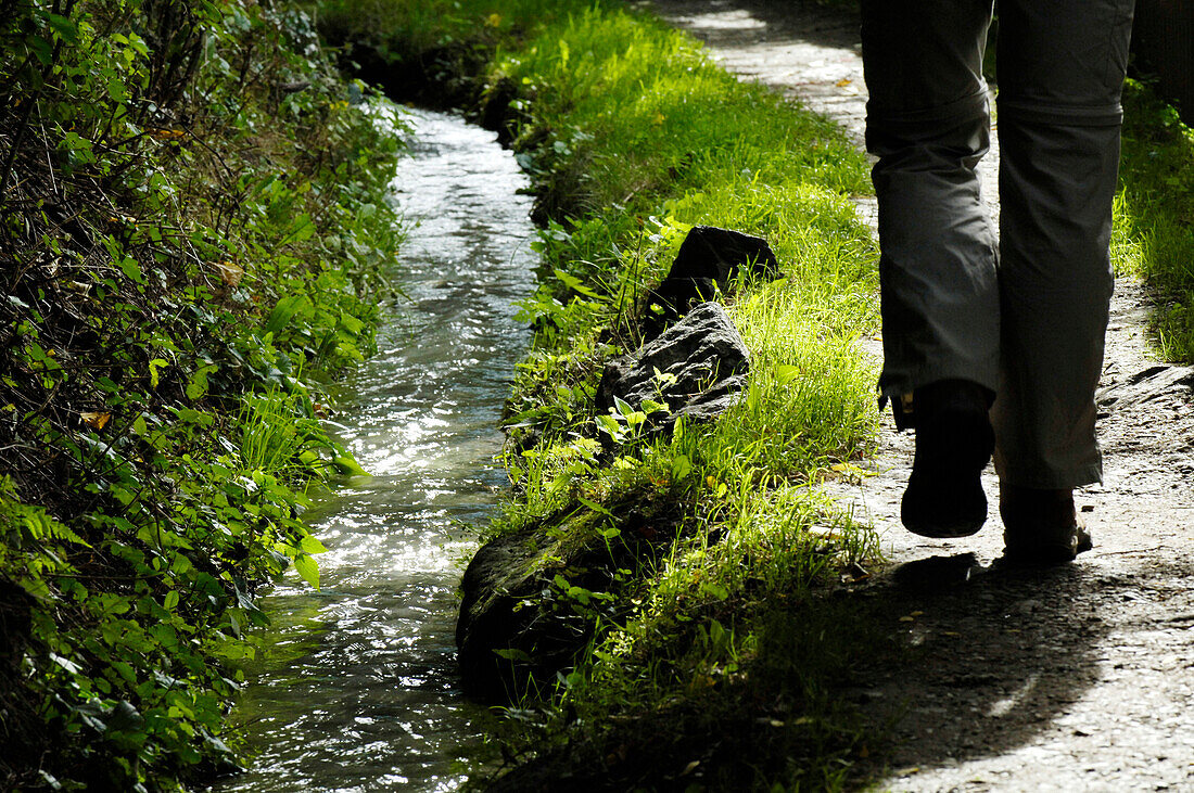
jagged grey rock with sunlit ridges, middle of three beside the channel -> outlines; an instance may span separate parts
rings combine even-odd
[[[634,410],[648,402],[670,413],[648,415],[653,428],[670,428],[678,416],[713,421],[733,407],[746,388],[750,352],[726,310],[701,303],[661,336],[605,365],[597,386],[597,410],[622,399]]]

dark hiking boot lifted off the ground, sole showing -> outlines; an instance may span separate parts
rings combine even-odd
[[[917,389],[916,457],[900,520],[921,537],[968,537],[986,521],[983,469],[995,448],[986,389],[941,380]]]

